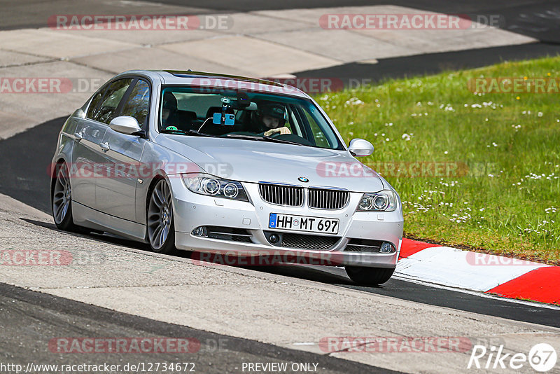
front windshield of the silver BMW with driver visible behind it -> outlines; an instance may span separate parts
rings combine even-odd
[[[260,92],[167,86],[160,101],[159,130],[344,149],[313,102]]]

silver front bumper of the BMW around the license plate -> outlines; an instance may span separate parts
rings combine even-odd
[[[193,193],[186,188],[179,175],[168,176],[172,186],[175,245],[177,249],[239,256],[270,256],[300,261],[309,258],[311,265],[355,265],[374,268],[395,268],[402,242],[402,212],[355,212],[362,193],[351,193],[344,209],[321,210],[306,207],[272,205],[260,198],[257,183],[243,183],[251,202],[212,198]],[[337,235],[299,233],[291,230],[268,228],[269,214],[293,214],[339,219]],[[251,242],[234,242],[192,234],[200,226],[239,228],[251,234]],[[279,247],[271,244],[265,232],[334,236],[337,242],[326,250]],[[376,240],[390,242],[392,253],[345,251],[349,240]],[[292,262],[292,261],[287,261]],[[258,263],[249,261],[249,265]]]

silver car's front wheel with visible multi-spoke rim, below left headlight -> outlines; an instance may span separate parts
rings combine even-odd
[[[155,183],[151,191],[146,223],[151,249],[158,254],[176,254],[171,189],[165,179]]]

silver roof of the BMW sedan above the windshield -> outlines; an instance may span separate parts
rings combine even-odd
[[[155,75],[158,75],[162,84],[165,85],[202,85],[214,88],[308,97],[304,92],[291,85],[246,76],[232,76],[191,70],[131,70],[125,71],[122,74],[144,74],[151,76],[151,78],[155,78]]]

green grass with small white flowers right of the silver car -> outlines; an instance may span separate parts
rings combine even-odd
[[[505,62],[316,99],[346,143],[374,145],[360,161],[400,194],[405,236],[559,263],[560,95],[477,95],[467,86],[477,77],[554,78],[559,66],[560,57]],[[409,177],[382,162],[448,162],[458,173]]]

